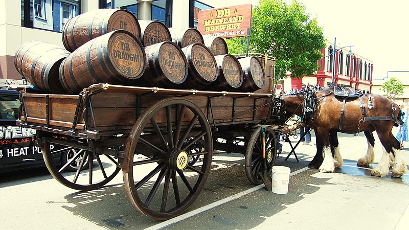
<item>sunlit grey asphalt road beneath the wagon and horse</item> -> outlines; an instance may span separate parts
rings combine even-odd
[[[376,135],[375,135],[376,136]],[[293,141],[293,145],[297,140]],[[312,136],[314,142],[314,136]],[[407,229],[409,174],[373,177],[356,166],[366,153],[365,137],[339,134],[344,166],[335,173],[307,168],[315,146],[300,145],[297,162],[287,161],[284,143],[276,165],[291,168],[287,194],[254,186],[242,154],[215,154],[213,170],[187,212],[168,221],[152,220],[133,208],[122,173],[108,186],[78,192],[60,185],[47,169],[0,174],[2,229]],[[407,143],[406,143],[407,144]],[[409,150],[402,151],[409,163]],[[375,162],[381,156],[375,142]],[[375,166],[373,164],[372,166]]]

